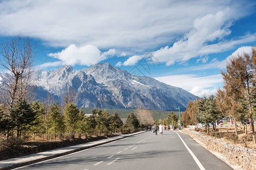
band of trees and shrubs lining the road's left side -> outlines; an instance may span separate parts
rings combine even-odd
[[[73,103],[72,89],[59,101],[50,95],[35,101],[32,40],[9,37],[0,54],[0,67],[8,73],[0,83],[0,159],[133,133],[154,123],[151,112],[141,108],[128,114],[125,123],[117,112],[102,109],[94,108],[88,116]]]

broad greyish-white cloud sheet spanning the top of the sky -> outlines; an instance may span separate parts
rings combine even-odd
[[[222,16],[212,18],[212,14],[225,11],[227,7],[229,14],[224,12],[224,20],[221,20]],[[199,31],[208,41],[221,38],[229,32],[224,27],[217,29],[220,24],[227,19],[246,16],[253,8],[251,3],[243,1],[216,0],[166,0],[161,3],[147,0],[1,1],[0,35],[22,32],[23,35],[42,39],[51,46],[92,44],[100,49],[114,47],[117,50],[148,52],[163,44],[172,44],[177,37],[191,31],[193,27],[197,33],[187,34],[190,37],[188,45],[191,40],[202,43],[203,39],[196,37]],[[216,24],[208,23],[204,26],[202,19],[206,22],[213,19],[212,23]],[[207,27],[212,32],[205,29]]]

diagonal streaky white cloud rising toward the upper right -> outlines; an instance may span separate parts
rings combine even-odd
[[[207,14],[195,19],[193,29],[186,33],[172,46],[166,46],[153,52],[160,62],[166,62],[167,66],[175,62],[187,62],[189,59],[209,54],[202,50],[209,42],[221,40],[230,34],[230,18],[233,11],[226,8],[216,14]],[[218,44],[218,43],[217,43]],[[154,58],[152,58],[154,59]]]

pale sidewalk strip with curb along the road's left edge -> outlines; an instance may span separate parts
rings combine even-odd
[[[101,139],[99,141],[88,142],[88,143],[84,143],[81,145],[68,146],[68,147],[64,147],[64,148],[58,148],[56,150],[44,151],[44,152],[39,152],[37,154],[2,160],[2,161],[0,161],[0,169],[14,169],[14,168],[23,167],[26,165],[42,162],[44,160],[49,160],[49,159],[57,158],[60,156],[72,154],[74,152],[86,150],[88,148],[104,145],[106,143],[118,141],[120,139],[131,137],[133,135],[141,134],[144,132],[146,132],[146,130],[139,131],[137,133],[132,133],[132,134],[125,134],[125,135],[121,135],[118,137]],[[73,147],[75,147],[75,148],[73,148]],[[60,151],[60,150],[64,150],[64,151]],[[65,151],[65,150],[68,150],[68,151]],[[46,156],[42,156],[42,155],[46,155]]]

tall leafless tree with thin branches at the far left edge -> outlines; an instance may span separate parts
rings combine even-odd
[[[31,99],[31,74],[34,69],[35,45],[29,37],[9,37],[1,44],[0,67],[7,71],[0,84],[0,99],[12,108],[18,98]]]

